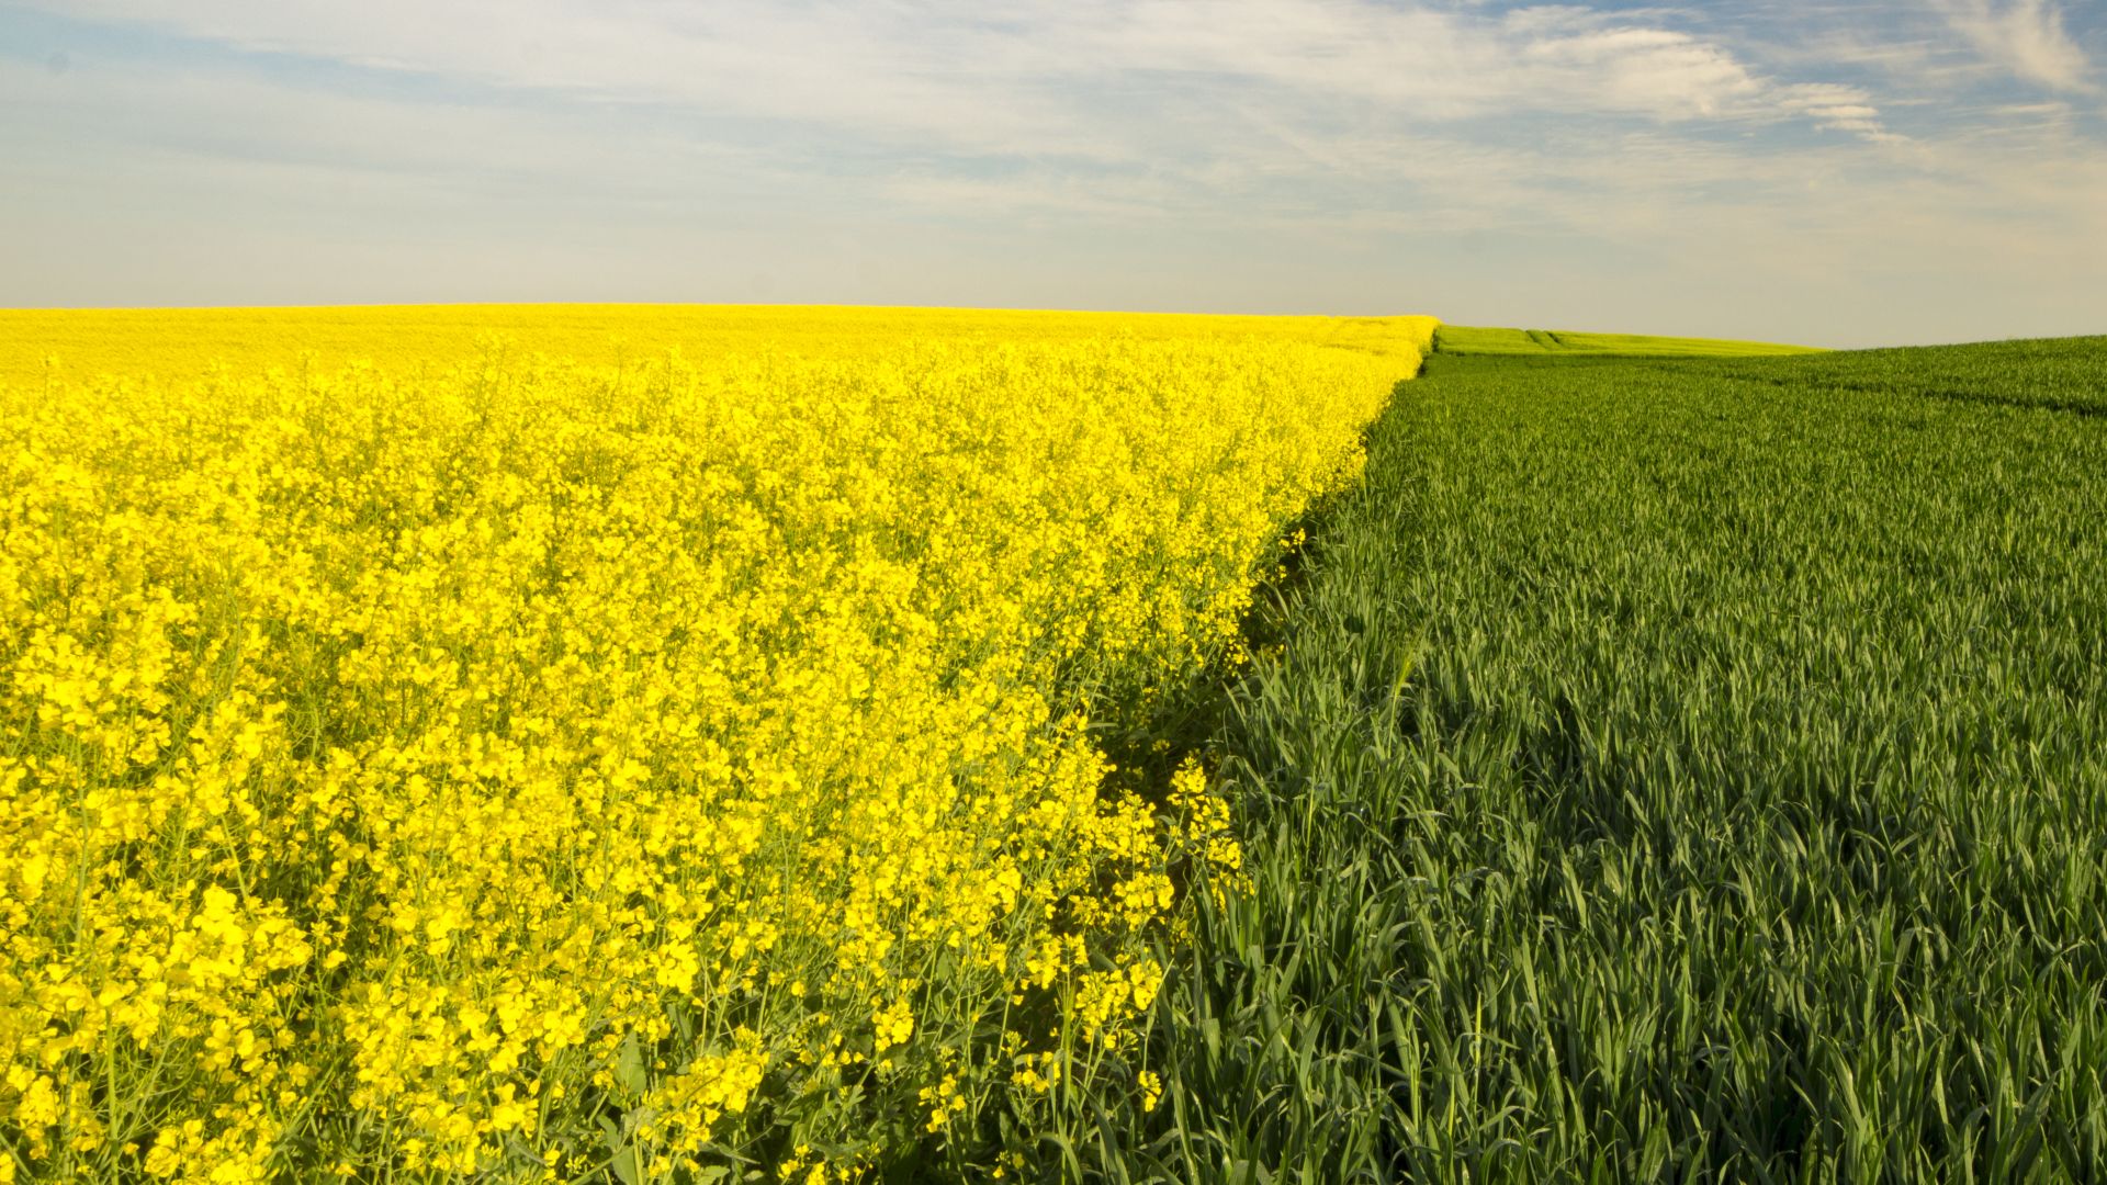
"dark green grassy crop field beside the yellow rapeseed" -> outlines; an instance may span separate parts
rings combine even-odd
[[[1450,331],[1443,329],[1443,335]],[[2107,339],[1435,358],[1117,1181],[2107,1177]]]

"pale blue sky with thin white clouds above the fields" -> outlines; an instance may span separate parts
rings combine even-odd
[[[2107,333],[2107,0],[0,0],[0,306]]]

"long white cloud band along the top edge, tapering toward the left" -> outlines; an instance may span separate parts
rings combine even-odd
[[[1153,114],[1222,95],[1414,122],[1485,114],[1652,120],[1797,114],[1732,48],[1669,15],[1504,17],[1378,0],[72,0],[253,51],[718,116],[872,129],[976,150],[1121,154]],[[1081,108],[1096,112],[1096,122]],[[1127,150],[1129,156],[1140,156]]]

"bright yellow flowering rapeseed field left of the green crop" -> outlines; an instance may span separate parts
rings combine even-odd
[[[1239,854],[1094,727],[1239,660],[1431,329],[0,312],[0,1181],[834,1181],[1150,1090]]]

